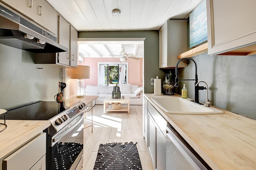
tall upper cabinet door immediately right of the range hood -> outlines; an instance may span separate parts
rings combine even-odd
[[[70,25],[62,16],[59,17],[59,35],[58,42],[60,45],[68,48],[68,51],[59,53],[58,63],[70,65]]]

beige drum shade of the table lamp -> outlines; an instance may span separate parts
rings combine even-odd
[[[78,65],[76,69],[70,69],[70,79],[89,79],[90,66]]]

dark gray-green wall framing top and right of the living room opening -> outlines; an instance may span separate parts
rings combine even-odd
[[[116,32],[78,32],[78,38],[146,38],[144,41],[144,93],[154,93],[150,78],[159,76],[164,80],[164,72],[158,68],[158,30],[156,31],[116,31]],[[132,67],[129,65],[129,67]]]

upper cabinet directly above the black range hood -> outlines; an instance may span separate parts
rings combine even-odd
[[[2,0],[27,18],[46,28],[53,34],[58,33],[57,11],[45,0]]]

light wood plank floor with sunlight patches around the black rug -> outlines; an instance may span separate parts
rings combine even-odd
[[[92,110],[91,127],[84,129],[84,164],[82,170],[93,170],[99,145],[110,142],[138,142],[136,144],[142,169],[153,170],[148,150],[142,136],[142,105],[130,105],[127,112],[107,112],[103,105],[95,105]],[[84,127],[91,124],[91,111],[86,113]]]

